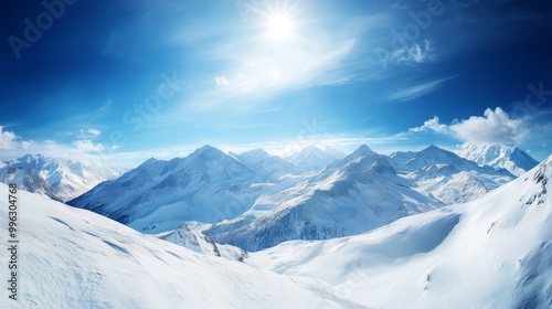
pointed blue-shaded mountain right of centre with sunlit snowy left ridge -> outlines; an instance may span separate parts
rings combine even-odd
[[[264,196],[262,204],[204,233],[217,243],[258,251],[289,239],[358,234],[442,206],[408,185],[385,157],[362,146],[319,174]]]

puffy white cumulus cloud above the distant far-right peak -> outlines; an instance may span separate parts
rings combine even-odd
[[[411,128],[403,135],[437,132],[469,143],[521,143],[529,137],[529,125],[523,119],[512,119],[500,107],[487,108],[484,116],[455,120],[450,125],[439,121],[437,116],[423,126]]]

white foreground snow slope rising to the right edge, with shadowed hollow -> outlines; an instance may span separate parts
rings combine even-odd
[[[467,204],[370,233],[253,253],[373,308],[552,307],[552,156]]]

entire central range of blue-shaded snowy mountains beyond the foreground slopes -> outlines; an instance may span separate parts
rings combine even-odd
[[[328,159],[325,169],[293,163],[263,149],[224,153],[204,146],[187,158],[150,159],[68,202],[137,231],[180,227],[219,243],[258,251],[289,239],[327,239],[363,233],[400,217],[467,202],[514,179],[428,147],[390,157],[362,146]]]

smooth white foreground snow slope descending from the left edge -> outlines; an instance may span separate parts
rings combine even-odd
[[[362,308],[325,284],[198,254],[25,191],[18,205],[19,300],[7,297],[2,271],[0,308],[319,308],[327,299]]]

